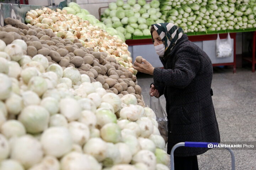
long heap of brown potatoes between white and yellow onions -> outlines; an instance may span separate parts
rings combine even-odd
[[[22,63],[30,61],[30,57],[36,55],[46,56],[49,65],[59,64],[63,69],[75,67],[80,74],[88,75],[91,82],[100,82],[108,92],[120,97],[133,94],[139,105],[145,106],[136,76],[106,52],[95,52],[92,47],[86,48],[78,39],[72,42],[57,37],[51,29],[29,26],[12,18],[6,18],[5,23],[8,25],[1,28],[0,39],[6,44],[14,40],[14,43],[22,44],[23,53],[27,55],[22,58]],[[81,82],[74,81],[77,88]]]

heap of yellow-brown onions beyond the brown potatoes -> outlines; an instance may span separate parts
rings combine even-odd
[[[108,34],[99,26],[93,26],[89,21],[80,17],[67,14],[66,10],[53,11],[49,8],[31,10],[26,13],[25,21],[42,29],[52,29],[54,34],[72,42],[81,42],[93,51],[106,52],[109,57],[114,57],[123,68],[129,68],[134,75],[137,71],[132,68],[132,57],[128,45],[116,35]]]

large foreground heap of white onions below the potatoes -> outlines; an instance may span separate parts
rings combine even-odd
[[[168,170],[150,108],[26,47],[0,40],[1,170]]]

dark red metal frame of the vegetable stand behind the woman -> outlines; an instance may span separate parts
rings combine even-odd
[[[207,41],[207,40],[216,40],[217,34],[204,34],[204,35],[194,35],[194,33],[188,33],[188,40],[190,41]],[[220,39],[224,39],[227,37],[227,33],[219,34]],[[216,63],[213,64],[213,66],[233,66],[233,72],[236,73],[236,33],[230,33],[231,39],[234,39],[234,60],[233,62],[228,63]],[[147,39],[133,39],[133,40],[126,40],[126,44],[129,46],[133,45],[146,45],[146,44],[152,44],[151,37]]]

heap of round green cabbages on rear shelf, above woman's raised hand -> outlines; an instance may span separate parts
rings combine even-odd
[[[104,11],[102,21],[107,29],[113,29],[122,32],[126,39],[131,39],[132,35],[142,36],[150,35],[150,27],[155,23],[162,23],[160,19],[160,3],[153,0],[146,3],[145,0],[123,0],[111,2]]]

